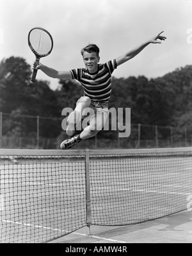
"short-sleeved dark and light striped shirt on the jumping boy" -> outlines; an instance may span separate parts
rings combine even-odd
[[[108,103],[111,96],[111,76],[116,69],[116,60],[98,64],[97,73],[90,74],[87,69],[72,69],[72,79],[78,80],[84,89],[84,96],[92,101]]]

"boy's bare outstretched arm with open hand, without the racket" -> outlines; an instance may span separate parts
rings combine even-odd
[[[163,33],[163,31],[161,33]],[[162,36],[161,33],[159,33],[156,37],[151,38],[144,44],[141,44],[140,46],[136,47],[135,49],[132,49],[128,53],[125,53],[125,55],[116,58],[116,64],[121,65],[124,62],[127,62],[127,60],[134,58],[134,56],[138,55],[138,53],[140,53],[146,46],[148,46],[148,44],[161,44],[161,40],[166,39],[166,37]],[[157,39],[159,39],[160,41]]]

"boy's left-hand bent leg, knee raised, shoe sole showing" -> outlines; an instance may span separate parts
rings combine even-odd
[[[68,136],[72,136],[74,134],[75,127],[81,121],[83,109],[89,107],[90,104],[91,99],[87,96],[83,96],[77,101],[75,110],[70,115],[68,115],[66,129],[66,133]]]

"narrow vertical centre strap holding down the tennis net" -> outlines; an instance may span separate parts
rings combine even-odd
[[[90,198],[90,151],[85,150],[85,175],[86,175],[86,224],[89,228],[92,225],[92,209],[91,209],[91,198]]]

